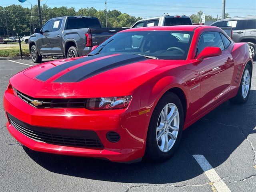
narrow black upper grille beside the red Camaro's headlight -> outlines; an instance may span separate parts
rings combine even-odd
[[[36,108],[85,108],[86,99],[47,99],[47,98],[32,98],[18,90],[15,90],[17,96],[24,100],[26,103],[30,104]],[[42,104],[35,106],[31,102],[37,100],[38,102],[42,102]]]

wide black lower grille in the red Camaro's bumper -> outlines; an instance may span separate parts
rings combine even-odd
[[[86,148],[104,148],[94,131],[32,126],[7,113],[10,124],[25,136],[48,144]]]

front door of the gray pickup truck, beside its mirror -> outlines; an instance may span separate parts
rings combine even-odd
[[[38,34],[37,45],[39,46],[40,54],[50,53],[51,45],[48,37],[52,29],[52,23],[53,20],[46,22],[46,24],[41,29],[42,34]]]

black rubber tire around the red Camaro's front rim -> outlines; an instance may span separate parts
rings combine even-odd
[[[164,106],[166,106],[168,103],[173,103],[178,108],[180,123],[179,123],[178,135],[176,137],[176,141],[174,142],[172,148],[170,148],[168,152],[162,152],[158,147],[158,143],[156,139],[156,134],[157,134],[156,127],[158,126],[160,113],[164,109]],[[148,126],[147,141],[146,141],[145,157],[154,162],[163,162],[168,158],[170,158],[179,146],[180,139],[182,136],[183,126],[184,126],[184,114],[183,114],[183,107],[180,99],[176,94],[172,92],[168,92],[164,94],[164,96],[162,96],[162,98],[159,100],[158,104],[156,105],[150,119],[150,124]]]

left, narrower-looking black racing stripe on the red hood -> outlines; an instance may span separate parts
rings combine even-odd
[[[105,56],[105,55],[104,55]],[[41,81],[46,81],[48,80],[49,78],[51,78],[52,76],[58,74],[59,72],[69,68],[69,67],[72,67],[72,66],[75,66],[77,64],[80,64],[82,62],[86,62],[86,61],[90,61],[92,59],[96,59],[96,58],[99,58],[99,57],[102,57],[102,54],[98,54],[98,55],[93,55],[93,56],[88,56],[88,57],[84,57],[84,58],[80,58],[80,59],[76,59],[76,60],[73,60],[73,61],[69,61],[69,62],[66,62],[64,64],[60,64],[56,67],[53,67],[53,68],[50,68],[44,72],[42,72],[41,74],[39,74],[38,76],[36,76],[37,79],[41,80]]]

